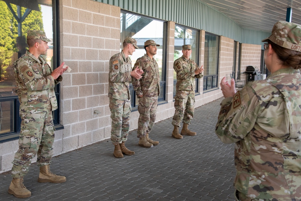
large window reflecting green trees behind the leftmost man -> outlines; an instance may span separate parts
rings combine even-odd
[[[17,5],[13,3],[17,3]],[[28,50],[27,30],[43,30],[53,40],[49,42],[46,55],[47,63],[57,66],[55,57],[57,48],[53,27],[56,2],[51,1],[0,1],[0,143],[19,137],[20,116],[19,100],[14,79],[13,63]],[[53,43],[53,44],[52,44]],[[58,89],[58,87],[57,87]],[[56,90],[59,100],[59,93]],[[56,111],[59,114],[59,111]],[[54,122],[59,122],[59,115],[54,114]]]

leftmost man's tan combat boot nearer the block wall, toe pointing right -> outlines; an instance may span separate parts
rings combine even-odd
[[[50,171],[49,164],[40,167],[38,182],[63,183],[65,181],[66,181],[66,177],[58,176]]]

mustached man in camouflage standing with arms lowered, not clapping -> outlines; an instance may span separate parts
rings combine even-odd
[[[153,40],[144,42],[146,54],[138,58],[134,68],[144,71],[140,79],[132,77],[132,84],[139,99],[138,112],[138,138],[139,146],[151,148],[158,145],[158,141],[151,140],[149,134],[156,121],[156,111],[158,105],[158,96],[160,94],[160,75],[159,66],[154,55],[157,54],[157,46]]]

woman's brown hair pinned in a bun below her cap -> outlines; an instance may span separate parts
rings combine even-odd
[[[268,44],[271,44],[282,65],[289,66],[294,69],[301,68],[301,52],[278,46],[271,40],[268,40]]]

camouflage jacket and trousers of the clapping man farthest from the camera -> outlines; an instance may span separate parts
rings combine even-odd
[[[194,115],[194,88],[195,78],[202,78],[203,73],[194,74],[199,66],[192,59],[184,56],[173,63],[173,69],[177,73],[177,85],[175,94],[175,115],[172,125],[180,127],[180,123],[190,124]]]

